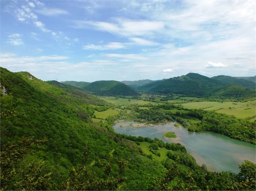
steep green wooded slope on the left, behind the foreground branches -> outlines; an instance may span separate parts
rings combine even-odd
[[[8,190],[17,190],[15,189],[17,188],[16,182],[24,181],[24,176],[33,173],[33,169],[28,169],[29,165],[41,167],[37,164],[40,160],[44,160],[43,172],[52,174],[46,185],[38,183],[39,187],[35,185],[35,190],[69,190],[69,187],[62,186],[72,178],[70,177],[74,172],[72,169],[81,164],[85,146],[90,150],[90,155],[86,158],[87,163],[93,164],[93,161],[96,161],[94,162],[96,164],[90,168],[92,168],[92,174],[99,179],[99,183],[107,177],[98,160],[103,161],[104,165],[109,158],[109,152],[113,149],[115,149],[112,153],[113,158],[123,158],[125,161],[131,158],[129,162],[131,165],[125,168],[124,175],[127,181],[124,189],[150,188],[156,182],[157,176],[154,174],[162,174],[165,171],[157,161],[139,154],[137,147],[131,141],[108,131],[107,125],[92,124],[90,118],[94,110],[87,104],[73,99],[64,89],[54,87],[27,72],[12,73],[2,67],[0,72],[1,86],[6,89],[6,93],[3,93],[3,89],[0,91],[1,151],[6,148],[5,145],[8,142],[21,140],[23,136],[47,140],[43,148],[37,148],[35,145],[33,147],[35,153],[26,155],[26,160],[15,166],[16,175],[8,180]],[[1,168],[2,165],[1,158]],[[110,171],[110,177],[116,176],[117,161],[111,160],[110,165],[115,169]],[[3,186],[2,170],[1,189]],[[11,168],[10,171],[12,170]],[[22,175],[20,171],[26,174]],[[150,181],[148,181],[148,175],[153,177]],[[89,179],[89,177],[83,178]],[[18,190],[22,190],[22,185],[19,188]],[[109,190],[111,188],[91,187],[88,189]]]

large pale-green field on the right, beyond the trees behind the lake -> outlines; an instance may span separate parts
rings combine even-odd
[[[255,115],[256,103],[250,102],[191,102],[181,104],[188,109],[216,110],[218,113],[233,115],[237,118],[247,118]],[[254,119],[252,119],[254,120]]]

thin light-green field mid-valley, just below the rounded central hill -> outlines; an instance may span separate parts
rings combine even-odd
[[[143,101],[143,100],[132,100],[130,99],[126,99],[126,98],[119,98],[116,99],[115,97],[112,96],[97,96],[98,98],[106,101],[106,102],[110,102],[111,104],[115,104],[115,105],[129,105],[129,104],[139,104],[139,105],[144,105],[144,104],[157,104],[155,102],[148,102],[148,101]]]

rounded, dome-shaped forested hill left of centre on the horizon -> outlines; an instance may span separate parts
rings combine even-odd
[[[94,81],[84,89],[92,91],[95,95],[139,95],[135,89],[119,81]]]

